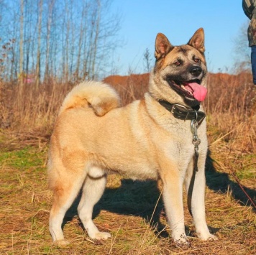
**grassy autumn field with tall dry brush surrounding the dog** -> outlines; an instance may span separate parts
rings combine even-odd
[[[145,93],[148,74],[105,80],[126,104]],[[0,254],[256,254],[256,86],[250,73],[209,74],[206,217],[218,241],[199,241],[185,209],[191,247],[176,248],[166,225],[161,183],[111,175],[93,214],[112,238],[88,238],[77,216],[78,198],[64,224],[71,244],[52,245],[47,149],[58,108],[72,86],[52,80],[36,91],[32,84],[21,90],[0,83]]]

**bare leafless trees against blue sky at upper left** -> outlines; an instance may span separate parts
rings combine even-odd
[[[0,0],[0,78],[60,82],[111,73],[120,17],[111,0]]]

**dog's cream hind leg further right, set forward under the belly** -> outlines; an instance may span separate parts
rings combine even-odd
[[[96,176],[90,176],[90,172],[93,172],[91,169],[86,177],[82,198],[78,205],[78,215],[90,238],[107,239],[111,237],[110,233],[100,232],[92,221],[93,206],[99,201],[106,187],[106,175],[98,176],[99,172],[103,171],[96,168],[93,167],[94,172],[97,172]]]

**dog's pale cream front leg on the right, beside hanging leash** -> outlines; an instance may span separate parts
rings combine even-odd
[[[199,153],[198,171],[193,169],[193,160],[189,164],[187,175],[185,178],[186,191],[188,194],[188,208],[193,216],[193,223],[196,227],[196,235],[202,240],[214,239],[216,236],[209,232],[206,224],[205,213],[205,186],[206,178],[204,172],[205,159],[202,153]]]

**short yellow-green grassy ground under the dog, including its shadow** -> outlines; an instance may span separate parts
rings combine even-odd
[[[0,253],[255,254],[255,212],[249,203],[244,204],[246,199],[238,200],[237,194],[242,193],[237,183],[227,173],[217,171],[211,157],[209,155],[206,171],[206,215],[218,241],[199,241],[186,209],[191,247],[176,248],[166,225],[161,184],[134,182],[111,175],[104,196],[94,210],[94,221],[101,231],[109,231],[112,238],[107,241],[88,238],[76,213],[76,201],[64,224],[65,238],[71,244],[61,248],[52,245],[48,231],[52,195],[47,187],[47,146],[2,149]],[[252,176],[243,175],[241,180],[253,185]],[[251,196],[255,195],[255,187],[246,188]]]

